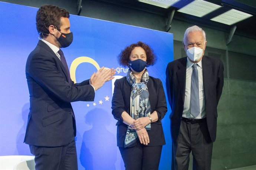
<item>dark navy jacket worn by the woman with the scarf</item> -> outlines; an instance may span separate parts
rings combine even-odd
[[[149,101],[151,106],[151,113],[156,111],[158,115],[157,122],[151,123],[151,130],[147,131],[150,139],[150,143],[147,146],[161,146],[165,145],[164,132],[161,120],[167,112],[166,99],[164,94],[163,84],[160,79],[153,78],[150,79],[147,84],[149,92]],[[117,79],[115,81],[114,94],[112,98],[112,114],[118,122],[117,125],[117,146],[124,147],[125,135],[128,126],[122,121],[122,112],[126,111],[130,114],[130,96],[131,96],[132,86],[128,83],[126,76]],[[137,140],[137,143],[140,143]],[[129,147],[137,145],[134,143]]]

